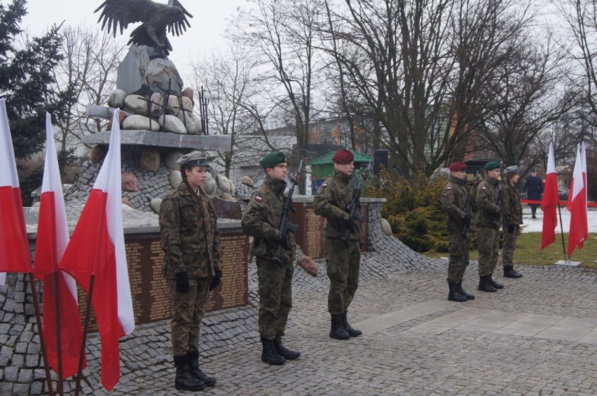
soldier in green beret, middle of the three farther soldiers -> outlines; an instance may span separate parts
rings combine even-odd
[[[496,292],[504,285],[493,281],[493,270],[497,265],[500,248],[500,206],[497,197],[500,193],[500,162],[488,162],[486,178],[476,189],[476,243],[479,248],[479,290]]]

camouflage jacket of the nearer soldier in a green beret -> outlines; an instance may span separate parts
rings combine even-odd
[[[242,231],[254,237],[253,254],[271,260],[280,241],[280,220],[284,208],[285,181],[266,176],[263,183],[253,192],[249,204],[242,213]],[[294,257],[294,235],[288,232],[291,248],[282,246],[282,261],[291,262]]]

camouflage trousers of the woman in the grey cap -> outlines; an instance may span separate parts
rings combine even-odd
[[[188,292],[176,290],[176,281],[168,279],[172,293],[172,350],[174,356],[186,355],[199,348],[199,330],[210,298],[210,277],[188,280]]]

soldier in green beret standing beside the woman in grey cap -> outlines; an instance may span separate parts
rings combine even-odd
[[[288,314],[292,306],[292,274],[296,243],[291,232],[280,234],[280,220],[286,190],[287,162],[284,153],[274,151],[259,162],[266,171],[242,214],[242,230],[254,237],[253,254],[259,278],[259,334],[263,351],[261,360],[282,365],[295,360],[300,352],[282,345]],[[282,245],[280,262],[274,260]]]

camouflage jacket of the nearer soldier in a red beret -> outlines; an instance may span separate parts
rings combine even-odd
[[[344,174],[334,169],[331,175],[320,186],[313,199],[313,210],[316,215],[327,219],[327,225],[324,229],[324,236],[330,239],[341,239],[348,227],[348,213],[344,210],[352,197],[355,195],[356,188],[350,184],[352,176]],[[359,209],[360,210],[360,209]],[[363,243],[363,229],[359,220],[355,220],[356,232],[350,233],[350,241],[359,241]]]

